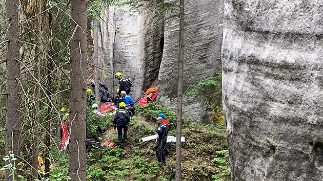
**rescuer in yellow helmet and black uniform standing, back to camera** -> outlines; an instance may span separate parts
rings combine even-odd
[[[116,111],[114,120],[113,120],[113,127],[114,130],[117,128],[118,130],[118,139],[119,145],[123,146],[122,144],[122,130],[124,130],[124,139],[127,139],[127,130],[128,130],[128,123],[130,122],[130,115],[127,110],[125,110],[126,104],[124,102],[120,102],[119,109]]]

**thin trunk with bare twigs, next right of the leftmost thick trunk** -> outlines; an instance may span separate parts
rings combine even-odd
[[[39,63],[41,58],[41,26],[42,26],[42,1],[37,0],[36,1],[36,30],[35,30],[35,40],[36,40],[36,48],[35,48],[35,65],[34,65],[34,77],[35,77],[35,92],[34,92],[34,107],[33,107],[33,117],[34,122],[32,125],[33,130],[33,149],[32,149],[32,180],[37,179],[38,177],[38,145],[39,145],[39,139],[38,139],[38,129],[39,129]]]

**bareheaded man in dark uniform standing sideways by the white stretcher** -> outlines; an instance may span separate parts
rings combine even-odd
[[[156,157],[158,162],[163,163],[163,165],[166,165],[166,160],[165,160],[165,152],[166,152],[166,141],[167,141],[167,134],[168,134],[168,129],[166,124],[163,123],[163,118],[158,117],[157,118],[157,123],[158,127],[155,129],[155,131],[158,134],[157,138],[157,145],[155,147],[156,150]]]

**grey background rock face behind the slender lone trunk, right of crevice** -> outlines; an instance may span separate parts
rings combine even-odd
[[[178,1],[165,0],[175,4]],[[220,66],[222,40],[223,0],[187,0],[185,2],[185,62],[184,91],[192,84],[215,75]],[[158,103],[168,107],[176,107],[179,10],[165,13],[165,43],[163,60],[158,76]],[[207,108],[194,99],[184,96],[183,113],[194,120],[210,122]]]

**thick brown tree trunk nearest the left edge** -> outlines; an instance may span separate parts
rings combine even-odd
[[[6,2],[6,154],[15,154],[19,156],[19,16],[18,16],[18,0]],[[10,159],[11,160],[11,159]],[[18,160],[10,161],[13,167],[18,167]],[[7,161],[6,164],[9,164]],[[17,173],[10,175],[10,170],[6,169],[6,180],[19,180]]]

